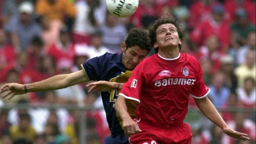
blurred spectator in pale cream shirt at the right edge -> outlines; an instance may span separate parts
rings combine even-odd
[[[256,68],[255,68],[255,50],[249,50],[246,53],[245,63],[238,65],[234,69],[234,73],[238,78],[238,86],[243,87],[244,79],[251,76],[255,79]]]

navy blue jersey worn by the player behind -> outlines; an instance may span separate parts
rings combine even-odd
[[[113,82],[113,79],[119,79],[119,82],[127,81],[127,78],[122,79],[120,77],[121,73],[123,74],[126,71],[126,68],[122,64],[122,54],[105,53],[100,57],[95,57],[84,62],[82,67],[90,78],[90,81]],[[101,92],[101,98],[111,135],[123,134],[124,132],[116,118],[116,110],[114,108],[117,91]]]

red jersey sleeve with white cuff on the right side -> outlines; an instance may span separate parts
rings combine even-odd
[[[204,84],[203,77],[202,77],[203,75],[202,68],[197,61],[195,66],[196,66],[195,69],[197,73],[197,79],[196,79],[195,85],[193,86],[191,96],[196,99],[202,99],[206,97],[206,95],[210,92],[210,89]]]

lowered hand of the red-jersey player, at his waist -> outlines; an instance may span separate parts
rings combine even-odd
[[[130,137],[134,133],[142,132],[139,125],[131,118],[123,120],[123,130],[127,137]]]

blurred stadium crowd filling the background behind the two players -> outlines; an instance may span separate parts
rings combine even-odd
[[[90,58],[121,52],[120,45],[131,28],[148,29],[156,19],[176,17],[186,33],[181,52],[201,63],[204,82],[211,89],[209,98],[230,127],[251,138],[229,138],[201,114],[190,111],[186,121],[191,125],[193,144],[255,143],[255,3],[140,0],[131,17],[117,18],[108,13],[105,0],[0,0],[0,86],[77,71]],[[103,143],[110,132],[100,93],[88,93],[85,85],[28,93],[11,100],[1,98],[0,107],[30,103],[94,106],[99,110],[81,115],[79,110],[65,108],[1,108],[0,143],[79,143],[82,116],[87,119],[86,143]],[[193,99],[189,108],[196,109]]]

